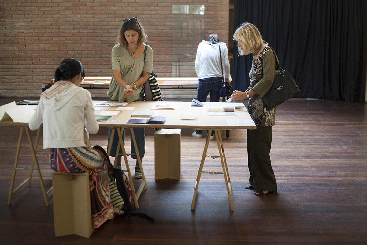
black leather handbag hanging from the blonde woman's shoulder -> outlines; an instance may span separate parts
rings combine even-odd
[[[273,50],[272,47],[270,48]],[[279,74],[275,76],[272,87],[265,94],[265,96],[262,97],[262,101],[268,110],[277,107],[301,91],[292,78],[291,74],[279,66],[278,58],[274,50],[273,53],[275,56],[275,62],[279,69]],[[264,59],[262,61],[264,61]],[[262,65],[263,64],[264,63],[262,63]]]

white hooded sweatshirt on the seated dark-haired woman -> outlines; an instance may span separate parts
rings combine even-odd
[[[83,147],[84,127],[91,134],[99,130],[88,90],[60,80],[41,94],[29,122],[36,130],[43,122],[43,148]]]

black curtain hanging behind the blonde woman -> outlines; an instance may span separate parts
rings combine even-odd
[[[298,98],[364,101],[366,0],[235,0],[235,30],[251,22],[293,76]],[[244,91],[253,55],[233,49],[233,89]]]

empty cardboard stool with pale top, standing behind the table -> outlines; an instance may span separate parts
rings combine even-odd
[[[154,134],[155,180],[181,176],[181,129],[159,129]]]

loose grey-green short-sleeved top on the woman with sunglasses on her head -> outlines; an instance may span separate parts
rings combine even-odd
[[[146,44],[145,44],[146,45]],[[153,50],[147,45],[146,55],[144,60],[144,54],[140,55],[138,58],[132,58],[126,48],[120,44],[116,44],[112,48],[112,69],[121,71],[121,78],[127,85],[135,83],[142,75],[142,72],[151,73],[153,70]],[[118,100],[119,102],[132,102],[136,101],[142,90],[142,86],[138,86],[134,93],[128,97],[123,96],[124,88],[116,83],[112,76],[110,86],[108,88],[107,96],[112,98],[112,100]]]

